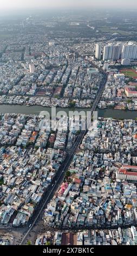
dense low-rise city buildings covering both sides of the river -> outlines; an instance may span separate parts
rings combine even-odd
[[[30,16],[16,26],[14,22],[6,29],[1,26],[2,34],[16,31],[17,36],[0,40],[0,104],[91,108],[105,79],[103,69],[107,81],[97,106],[116,108],[120,103],[121,109],[137,110],[136,70],[119,68],[136,65],[132,63],[137,60],[136,43],[123,41],[125,31],[119,34],[117,25],[110,34],[108,29],[102,33],[89,25],[86,32],[82,22],[67,18],[69,32],[69,26],[60,26],[65,18],[58,19],[53,17],[53,22],[46,17],[38,22]],[[77,32],[75,26],[79,26]],[[86,37],[89,31],[95,33],[92,38]],[[50,120],[40,129],[41,119],[0,114],[0,224],[31,226],[62,173],[63,181],[40,220],[46,231],[37,237],[36,245],[137,245],[136,120],[99,117],[96,132],[86,133],[65,172],[66,149],[73,152],[81,119],[71,118],[64,124],[62,117],[56,131],[50,129]],[[23,236],[23,229],[19,230]],[[0,245],[10,242],[0,236]]]

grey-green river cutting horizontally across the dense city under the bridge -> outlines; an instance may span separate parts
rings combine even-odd
[[[67,114],[69,111],[90,111],[90,108],[56,108],[56,113],[59,111],[65,111]],[[40,114],[41,111],[47,111],[51,115],[50,107],[41,107],[41,106],[30,106],[27,107],[25,105],[0,105],[0,113],[21,113],[21,114]],[[98,112],[98,117],[112,117],[116,119],[135,119],[137,118],[137,111],[125,111],[125,110],[117,110],[113,108],[108,109],[99,109],[96,108]]]

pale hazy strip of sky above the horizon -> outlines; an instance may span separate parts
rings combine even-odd
[[[136,0],[1,0],[0,10],[112,7],[137,9]]]

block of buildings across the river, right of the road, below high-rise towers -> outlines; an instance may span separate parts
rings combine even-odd
[[[108,66],[109,65],[109,66]],[[108,78],[101,100],[97,107],[137,110],[137,82],[135,69],[112,69],[109,61],[105,61],[103,69],[107,71]],[[124,73],[124,74],[123,74]],[[133,82],[129,82],[130,76]],[[130,98],[129,100],[126,100]],[[123,99],[123,100],[122,100]]]

